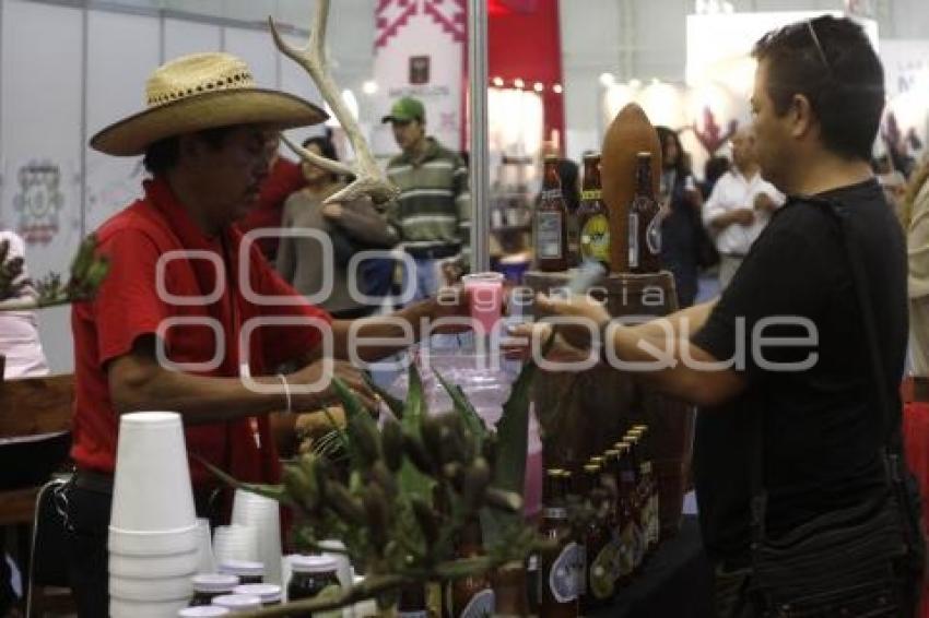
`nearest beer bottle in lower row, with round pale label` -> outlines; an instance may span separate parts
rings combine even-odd
[[[549,618],[575,618],[579,614],[577,568],[580,551],[568,521],[563,471],[548,471],[542,497],[545,507],[541,533],[554,543],[554,547],[540,554],[542,602],[539,613]]]

